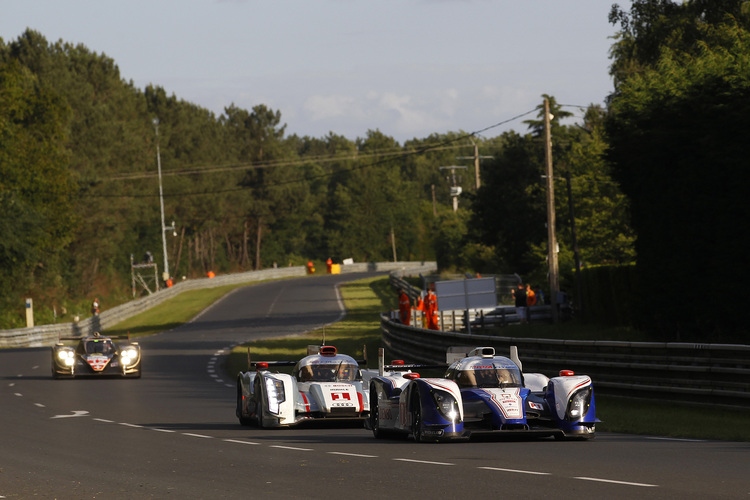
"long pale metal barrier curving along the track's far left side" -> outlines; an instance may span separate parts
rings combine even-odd
[[[359,272],[427,272],[436,268],[435,262],[364,262],[341,266],[341,273]],[[305,276],[304,266],[263,269],[238,274],[219,275],[214,278],[198,278],[177,282],[171,288],[126,302],[117,307],[106,309],[98,316],[86,318],[77,323],[58,323],[54,325],[35,326],[0,330],[0,348],[2,347],[43,347],[57,342],[59,337],[79,336],[95,331],[104,331],[117,323],[146,311],[155,305],[170,299],[187,290],[215,288],[225,285],[252,283],[256,281],[292,278]]]

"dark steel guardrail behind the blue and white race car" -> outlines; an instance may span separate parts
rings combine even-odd
[[[515,345],[525,371],[585,373],[606,394],[750,408],[749,345],[468,335],[404,326],[387,314],[380,325],[388,350],[413,362],[445,363],[450,346],[492,346],[507,355]]]

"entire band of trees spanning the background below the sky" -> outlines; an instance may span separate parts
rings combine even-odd
[[[610,22],[606,109],[563,125],[571,108],[540,96],[521,131],[404,144],[377,130],[289,135],[263,105],[217,117],[161,87],[135,88],[86,47],[32,30],[0,40],[0,326],[20,325],[23,297],[37,311],[94,294],[124,300],[131,254],[151,251],[161,270],[157,156],[174,276],[437,259],[544,286],[545,97],[563,288],[576,298],[579,267],[637,262],[635,273],[597,273],[627,279],[578,283],[639,283],[628,322],[655,338],[745,342],[748,2],[635,0],[629,12],[613,6]],[[457,161],[475,145],[479,189],[472,162]],[[469,169],[457,172],[454,212],[454,179],[440,167],[457,164]]]

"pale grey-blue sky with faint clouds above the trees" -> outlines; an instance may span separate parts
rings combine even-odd
[[[218,117],[281,112],[286,134],[403,143],[524,133],[542,104],[603,104],[615,0],[0,0],[0,37],[27,29],[114,60]],[[630,2],[620,1],[623,8]],[[583,111],[570,107],[573,122]]]

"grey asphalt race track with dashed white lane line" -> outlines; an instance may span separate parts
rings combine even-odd
[[[223,356],[336,321],[336,285],[361,276],[236,290],[143,339],[139,380],[54,380],[49,348],[0,350],[0,498],[750,498],[747,443],[417,444],[356,425],[240,426]]]

